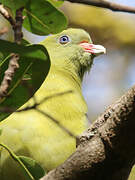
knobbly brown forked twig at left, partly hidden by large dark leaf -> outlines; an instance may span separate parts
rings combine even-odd
[[[22,23],[23,23],[23,8],[16,11],[16,17],[14,20],[12,16],[9,15],[8,11],[0,4],[0,13],[10,22],[14,30],[14,39],[17,44],[21,43],[22,39]],[[19,68],[19,54],[12,53],[11,59],[9,61],[8,69],[5,71],[3,81],[0,85],[0,100],[7,96],[8,88],[12,82],[16,70]]]

